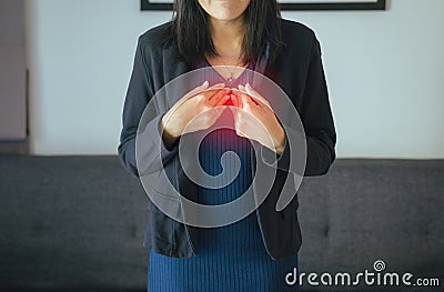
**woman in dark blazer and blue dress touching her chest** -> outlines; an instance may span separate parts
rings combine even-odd
[[[281,19],[275,0],[178,0],[171,22],[139,38],[119,145],[121,161],[132,174],[139,175],[135,135],[148,102],[169,81],[199,68],[212,70],[210,80],[150,122],[147,137],[160,135],[161,142],[147,140],[147,149],[152,150],[148,155],[161,149],[152,155],[161,155],[174,187],[203,204],[230,202],[249,187],[254,175],[249,141],[276,153],[279,170],[270,195],[256,212],[222,228],[174,221],[150,202],[144,240],[150,248],[148,290],[297,291],[297,285],[285,283],[285,275],[297,266],[301,245],[297,198],[280,212],[274,209],[289,171],[287,133],[270,109],[268,100],[273,97],[261,95],[250,85],[248,70],[263,73],[286,92],[305,130],[304,175],[324,174],[335,159],[336,134],[319,41],[305,26]],[[269,137],[245,127],[236,111],[221,111],[186,128],[194,117],[223,104],[255,117]],[[234,130],[216,129],[205,137],[199,149],[202,169],[216,175],[222,171],[221,155],[234,151],[241,171],[224,188],[201,188],[181,171],[178,141],[220,119],[232,119]]]

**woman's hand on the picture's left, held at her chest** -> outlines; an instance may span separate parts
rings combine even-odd
[[[221,111],[209,111],[223,105],[229,99],[231,90],[223,83],[209,88],[205,81],[202,85],[188,92],[162,117],[163,141],[171,148],[175,140],[184,133],[204,130],[214,124],[222,114]],[[208,114],[205,113],[208,111]],[[195,120],[186,127],[191,120]]]

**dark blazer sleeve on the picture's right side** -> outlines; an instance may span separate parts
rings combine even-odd
[[[322,64],[321,46],[314,32],[312,36],[305,89],[299,112],[304,127],[306,142],[306,164],[303,173],[304,177],[325,174],[336,158],[336,132]],[[274,163],[278,169],[285,172],[302,175],[300,170],[294,169],[294,165],[291,164],[289,135],[292,137],[292,139],[303,139],[301,133],[293,131],[292,129],[285,129],[283,152],[275,159],[273,159],[273,155],[269,153],[269,159],[265,159],[266,155],[264,155],[264,153],[271,152],[271,150],[261,147],[262,160],[264,163],[270,165]],[[297,154],[300,153],[296,153],[296,155]]]

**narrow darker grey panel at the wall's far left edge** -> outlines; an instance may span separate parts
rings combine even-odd
[[[0,141],[26,138],[23,0],[0,1]]]

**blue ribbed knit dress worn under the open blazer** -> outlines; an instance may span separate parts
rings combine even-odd
[[[209,66],[204,62],[204,66]],[[223,82],[215,71],[210,83]],[[234,82],[249,81],[244,71]],[[233,85],[236,85],[233,84]],[[225,110],[222,119],[232,119]],[[202,169],[210,175],[222,172],[221,157],[233,151],[241,160],[236,179],[221,189],[200,188],[198,200],[202,204],[223,204],[235,200],[252,182],[251,158],[254,150],[250,141],[236,135],[232,129],[210,132],[199,149]],[[234,165],[234,163],[228,163]],[[225,169],[233,172],[233,169]],[[230,174],[229,174],[230,177]],[[285,292],[299,288],[285,283],[285,275],[297,268],[297,255],[274,261],[266,253],[256,213],[221,228],[199,229],[195,258],[169,258],[150,250],[147,288],[149,292]]]

